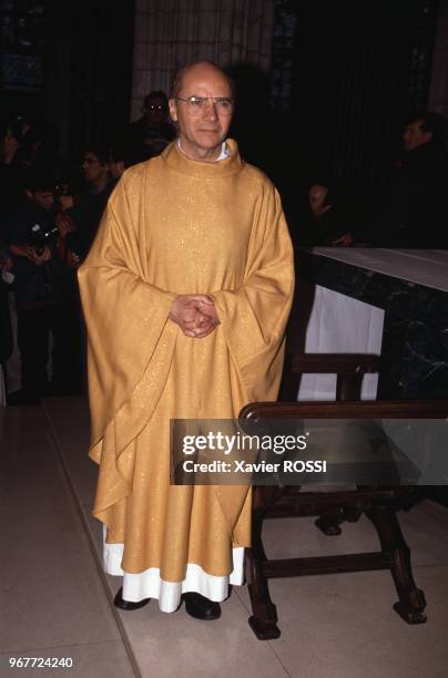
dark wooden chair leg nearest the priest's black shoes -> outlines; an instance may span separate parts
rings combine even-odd
[[[267,578],[263,574],[266,557],[262,542],[263,517],[255,513],[252,526],[252,548],[245,549],[245,571],[253,616],[248,625],[258,640],[278,638],[277,608],[271,600]]]

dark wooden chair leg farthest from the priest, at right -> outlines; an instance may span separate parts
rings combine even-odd
[[[383,552],[391,555],[390,566],[399,600],[394,609],[408,624],[424,624],[425,594],[417,588],[414,582],[410,565],[410,551],[405,542],[395,511],[388,506],[374,506],[366,511],[366,515],[374,523]]]

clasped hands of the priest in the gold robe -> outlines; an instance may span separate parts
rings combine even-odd
[[[170,318],[185,337],[194,339],[206,337],[220,325],[215,304],[206,295],[180,295],[173,301]]]

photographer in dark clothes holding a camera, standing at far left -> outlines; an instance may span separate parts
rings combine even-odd
[[[60,256],[54,178],[41,170],[29,174],[26,186],[26,197],[3,225],[14,264],[22,379],[22,390],[10,396],[10,404],[38,404],[45,393],[77,392],[80,381],[78,317],[67,288],[70,270]],[[47,379],[50,332],[51,383]]]

